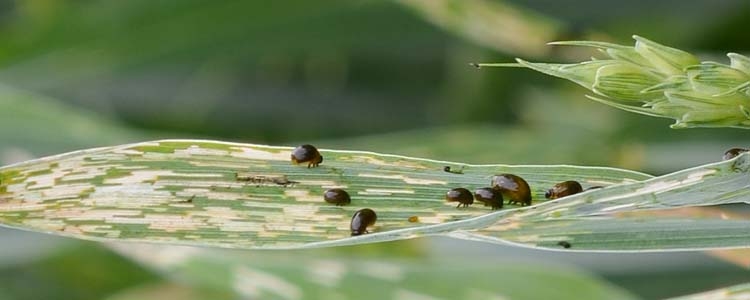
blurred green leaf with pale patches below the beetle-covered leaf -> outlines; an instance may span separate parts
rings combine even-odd
[[[502,256],[399,259],[366,257],[362,247],[319,255],[114,246],[181,282],[234,291],[242,299],[634,299],[570,267]]]

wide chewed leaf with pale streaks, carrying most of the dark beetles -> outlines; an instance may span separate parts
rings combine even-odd
[[[369,152],[323,150],[324,163],[292,165],[291,148],[172,140],[73,152],[0,168],[0,221],[7,226],[96,240],[232,248],[299,248],[416,237],[490,214],[444,201],[454,187],[490,185],[513,173],[534,203],[557,182],[636,182],[648,175],[595,167],[465,165]],[[463,174],[443,171],[445,166]],[[322,199],[342,187],[352,205]],[[352,214],[378,213],[373,233],[350,237]],[[502,213],[513,211],[507,206]],[[408,219],[417,216],[418,222]],[[456,226],[459,226],[457,223]],[[421,231],[421,232],[420,232]]]

